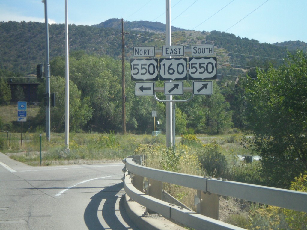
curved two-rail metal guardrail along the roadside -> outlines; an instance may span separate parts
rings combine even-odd
[[[232,182],[221,178],[213,179],[212,177],[201,177],[153,169],[135,163],[134,159],[132,158],[124,159],[123,163],[125,163],[126,171],[124,177],[125,192],[131,199],[154,212],[161,213],[166,218],[175,220],[191,228],[208,230],[243,229],[216,220],[218,219],[218,197],[221,195],[307,212],[307,193],[305,192]],[[142,190],[140,188],[143,187],[143,184],[142,186],[136,186],[138,189],[135,188],[135,183],[133,182],[134,179],[132,178],[135,178],[135,182],[139,182],[143,181],[144,177],[161,183],[167,182],[196,189],[197,195],[195,200],[199,200],[199,204],[197,205],[197,213],[169,204],[165,201],[161,201],[160,199],[152,197],[148,194],[144,194],[142,191],[140,191]],[[205,199],[212,199],[212,202],[210,203],[209,201],[208,204],[208,201]],[[204,211],[201,208],[201,203],[205,202],[207,203],[206,210]],[[214,214],[216,209],[217,216]],[[213,212],[213,214],[210,212]],[[208,213],[209,214],[204,216],[200,213],[205,213],[205,215]]]

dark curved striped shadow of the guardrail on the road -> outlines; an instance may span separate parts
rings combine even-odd
[[[122,196],[119,210],[123,220],[129,224],[129,227],[126,227],[119,219],[116,217],[115,213],[115,203],[118,199],[119,191],[122,190],[124,183],[119,183],[110,187],[107,187],[101,190],[99,193],[95,194],[91,197],[90,203],[87,205],[84,212],[84,221],[89,230],[98,230],[98,229],[106,229],[106,226],[103,226],[97,215],[102,215],[104,221],[109,226],[108,229],[112,230],[138,230],[137,227],[131,222],[131,220],[127,217],[124,207],[123,200],[124,196]],[[98,210],[99,205],[102,200],[105,200],[103,204],[102,210]]]

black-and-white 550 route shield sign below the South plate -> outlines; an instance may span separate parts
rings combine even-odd
[[[216,79],[216,57],[189,58],[189,80]]]

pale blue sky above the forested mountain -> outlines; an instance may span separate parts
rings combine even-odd
[[[261,43],[307,42],[307,0],[170,0],[171,25],[233,33]],[[165,0],[67,0],[68,24],[110,18],[165,24]],[[47,0],[49,23],[65,23],[65,0]],[[41,0],[0,0],[0,21],[45,21]]]

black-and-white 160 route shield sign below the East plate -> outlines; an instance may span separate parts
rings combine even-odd
[[[160,80],[187,80],[186,58],[160,58]]]

